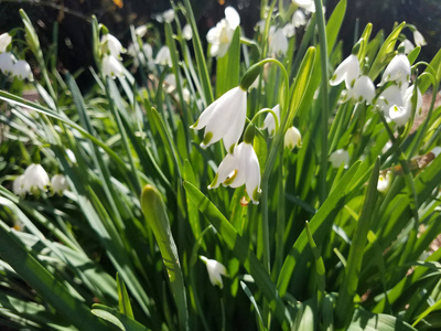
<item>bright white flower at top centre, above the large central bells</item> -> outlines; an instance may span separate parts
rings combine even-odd
[[[234,31],[240,24],[240,17],[233,7],[225,9],[225,19],[222,19],[216,26],[209,29],[207,33],[207,42],[212,44],[209,55],[224,56],[232,43]]]

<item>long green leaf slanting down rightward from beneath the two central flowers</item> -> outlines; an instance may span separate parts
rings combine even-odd
[[[283,301],[279,297],[276,285],[271,281],[268,273],[263,269],[263,266],[257,259],[256,255],[249,250],[246,241],[237,233],[234,226],[227,218],[225,218],[208,197],[206,197],[196,186],[189,182],[184,182],[184,189],[189,194],[190,200],[217,229],[235,256],[252,276],[257,286],[270,302],[270,306],[280,323],[284,324],[287,321],[290,322],[290,314],[284,307]]]

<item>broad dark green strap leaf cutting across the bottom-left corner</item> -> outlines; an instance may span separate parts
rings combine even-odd
[[[72,296],[4,224],[0,224],[0,255],[42,298],[79,330],[105,330],[88,307]]]

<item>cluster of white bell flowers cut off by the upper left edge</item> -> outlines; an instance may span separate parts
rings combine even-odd
[[[29,63],[24,60],[17,60],[11,52],[8,52],[11,42],[12,36],[8,32],[0,34],[0,71],[4,75],[11,75],[20,81],[28,78],[32,82],[33,75]]]

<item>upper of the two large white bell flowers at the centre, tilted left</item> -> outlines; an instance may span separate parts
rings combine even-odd
[[[246,115],[247,92],[237,86],[211,104],[191,128],[205,128],[202,148],[223,139],[225,149],[233,153],[244,130]]]

